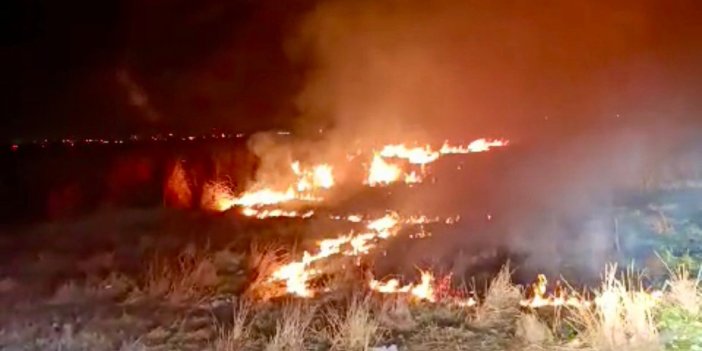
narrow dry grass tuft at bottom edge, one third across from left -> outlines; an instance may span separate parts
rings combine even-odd
[[[232,325],[220,328],[215,340],[215,350],[236,351],[245,349],[251,342],[251,310],[250,300],[239,300],[232,304]]]

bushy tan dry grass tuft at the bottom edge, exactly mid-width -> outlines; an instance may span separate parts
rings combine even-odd
[[[380,322],[371,307],[370,296],[354,297],[345,312],[335,308],[325,311],[325,334],[332,350],[369,350],[381,333]]]

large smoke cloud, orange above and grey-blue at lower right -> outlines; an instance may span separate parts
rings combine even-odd
[[[689,140],[681,122],[698,124],[702,82],[680,78],[699,71],[691,32],[702,30],[663,18],[674,11],[688,23],[683,10],[654,1],[319,2],[286,46],[307,68],[296,132],[317,138],[296,148],[340,159],[381,143],[508,137],[509,151],[395,193],[394,208],[465,220],[388,260],[414,266],[457,247],[507,247],[531,269],[575,262],[596,274],[616,259],[617,194],[667,167],[661,160]]]

